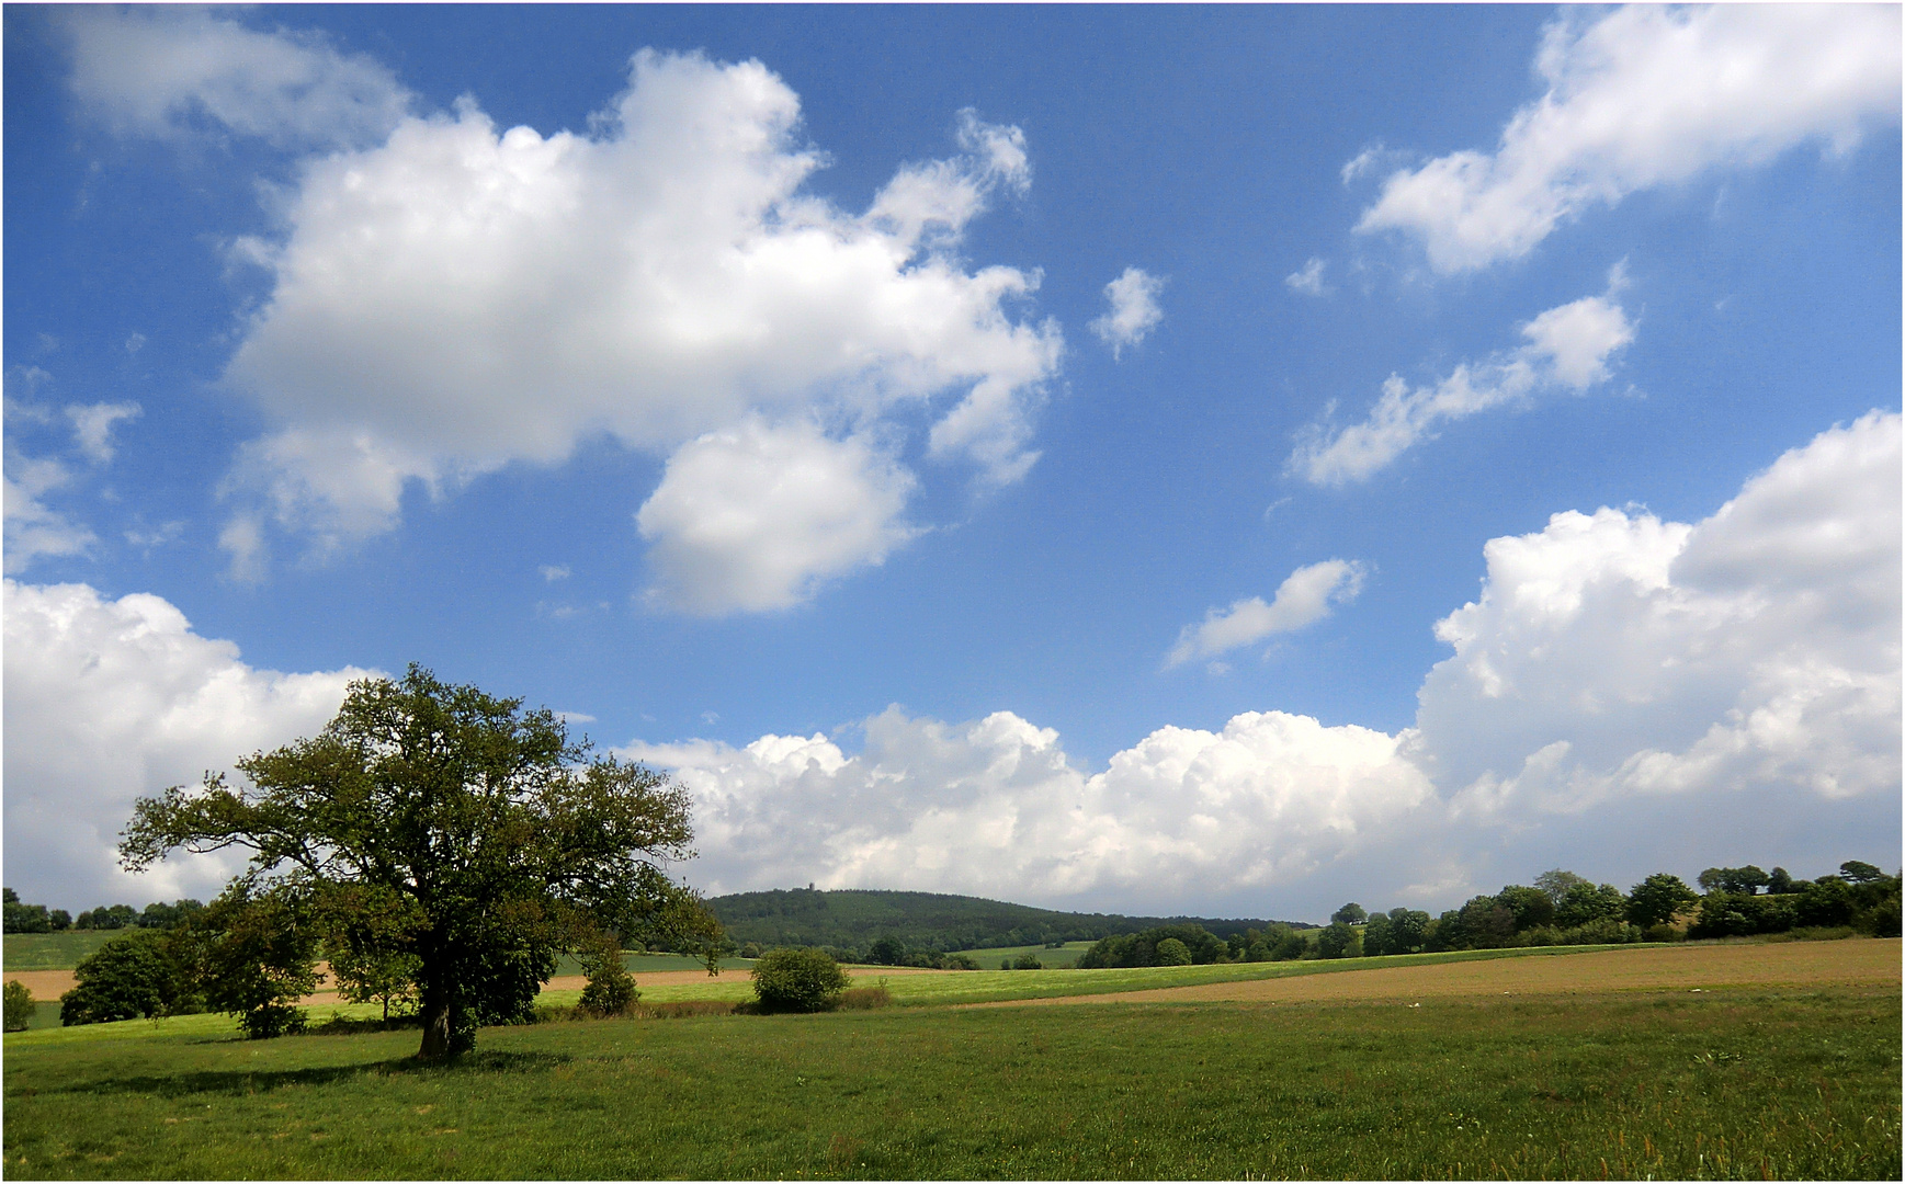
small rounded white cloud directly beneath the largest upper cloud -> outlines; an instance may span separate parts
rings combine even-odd
[[[871,442],[794,421],[711,432],[669,459],[636,512],[657,569],[650,598],[690,613],[783,609],[880,563],[916,529],[914,478]]]

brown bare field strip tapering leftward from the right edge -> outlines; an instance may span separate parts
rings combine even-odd
[[[1307,1003],[1412,1001],[1450,996],[1568,996],[1610,990],[1716,990],[1728,986],[1897,986],[1899,940],[1650,946],[1570,957],[1497,957],[1334,975],[1200,982],[1153,990],[1000,999],[966,1007],[1052,1003]]]

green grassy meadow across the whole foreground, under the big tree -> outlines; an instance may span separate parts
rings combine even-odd
[[[413,1030],[242,1041],[215,1020],[131,1024],[143,1039],[101,1032],[126,1024],[8,1036],[4,1173],[1884,1180],[1901,1169],[1897,986],[598,1020],[486,1028],[453,1066],[417,1064]]]

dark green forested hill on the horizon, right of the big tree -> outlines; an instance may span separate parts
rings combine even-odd
[[[735,942],[762,946],[840,946],[865,950],[878,937],[897,937],[914,950],[979,950],[1040,942],[1097,940],[1158,925],[1194,921],[1217,937],[1263,929],[1263,919],[1126,918],[1101,912],[1053,912],[979,897],[890,893],[878,889],[773,889],[709,900]],[[1290,921],[1297,929],[1309,925]]]

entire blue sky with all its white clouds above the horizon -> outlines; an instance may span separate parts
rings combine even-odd
[[[711,891],[1895,864],[1897,42],[11,6],[8,883],[411,661]]]

